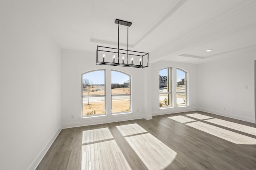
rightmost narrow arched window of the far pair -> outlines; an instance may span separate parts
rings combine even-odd
[[[177,81],[176,81],[176,106],[186,106],[187,105],[187,72],[176,69]]]

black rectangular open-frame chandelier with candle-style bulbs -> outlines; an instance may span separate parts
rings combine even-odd
[[[131,22],[116,19],[118,24],[118,48],[97,47],[96,64],[110,66],[126,66],[135,68],[148,67],[148,53],[128,50],[128,27]],[[127,26],[127,50],[119,49],[119,25]]]

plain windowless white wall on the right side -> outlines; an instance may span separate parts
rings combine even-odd
[[[256,52],[231,55],[236,57],[198,65],[198,107],[202,111],[255,123]]]

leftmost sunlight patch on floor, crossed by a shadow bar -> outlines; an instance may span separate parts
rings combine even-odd
[[[81,170],[131,170],[108,128],[83,131]]]

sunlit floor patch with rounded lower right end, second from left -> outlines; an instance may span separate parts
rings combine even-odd
[[[138,124],[122,125],[118,129],[148,170],[164,170],[176,158],[174,150],[150,133],[145,133],[145,129]]]

